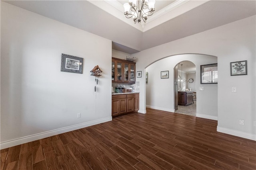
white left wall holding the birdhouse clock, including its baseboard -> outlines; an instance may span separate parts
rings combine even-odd
[[[108,39],[1,1],[1,149],[112,120],[111,49]],[[62,53],[84,58],[83,74],[61,72]]]

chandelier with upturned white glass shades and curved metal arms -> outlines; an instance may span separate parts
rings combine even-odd
[[[133,18],[134,23],[140,23],[141,20],[146,22],[155,11],[155,3],[155,0],[129,0],[129,3],[124,4],[124,15]]]

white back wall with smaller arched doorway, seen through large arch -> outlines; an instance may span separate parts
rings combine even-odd
[[[166,57],[148,66],[149,80],[146,85],[147,107],[164,111],[174,111],[174,67],[181,61],[191,61],[196,65],[196,72],[200,72],[200,65],[217,62],[217,57],[197,54],[174,55]],[[160,78],[160,72],[169,70],[169,78]],[[180,72],[181,75],[181,72]],[[186,73],[182,73],[182,79],[186,80]],[[197,89],[197,114],[218,116],[218,89],[217,84],[200,84],[200,74],[196,75],[197,86],[204,86],[204,91]],[[211,96],[209,98],[208,96]],[[207,107],[205,107],[207,106]]]

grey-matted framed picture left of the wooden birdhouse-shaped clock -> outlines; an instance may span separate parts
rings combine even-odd
[[[81,57],[62,54],[60,71],[82,74],[83,63],[84,63],[84,59]]]

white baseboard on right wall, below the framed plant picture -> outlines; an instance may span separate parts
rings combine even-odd
[[[233,136],[242,137],[242,138],[245,138],[245,139],[250,139],[250,140],[256,141],[256,135],[251,134],[251,133],[236,131],[236,130],[227,129],[227,128],[224,128],[224,127],[218,127],[218,126],[217,126],[217,132],[226,133],[226,134],[229,134],[229,135],[233,135]]]

